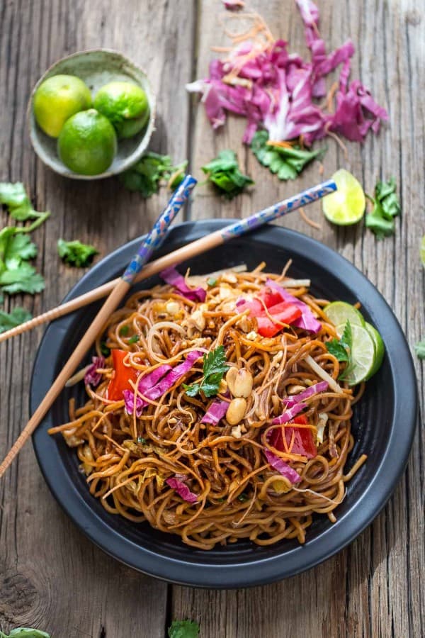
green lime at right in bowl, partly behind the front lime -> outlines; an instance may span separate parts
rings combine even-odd
[[[149,118],[147,95],[132,82],[105,84],[94,96],[94,107],[113,123],[120,138],[139,133]]]

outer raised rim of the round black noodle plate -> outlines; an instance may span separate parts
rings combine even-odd
[[[222,219],[181,223],[171,228],[169,241],[178,244],[187,243],[223,228],[228,223],[229,220]],[[392,335],[390,343],[386,343],[387,354],[390,360],[396,357],[392,360],[395,398],[390,435],[385,454],[376,469],[373,481],[353,503],[353,507],[344,519],[339,521],[337,528],[329,528],[306,546],[283,552],[283,560],[276,559],[276,556],[262,559],[258,554],[249,562],[235,561],[232,564],[228,562],[220,564],[220,561],[217,561],[217,564],[210,565],[203,563],[201,559],[194,563],[152,552],[145,547],[137,546],[116,530],[111,530],[106,522],[101,520],[82,500],[69,476],[64,472],[61,474],[62,465],[59,454],[57,457],[43,454],[43,441],[45,442],[45,430],[49,418],[47,415],[43,422],[44,427],[39,427],[33,435],[33,447],[42,475],[62,509],[104,552],[137,571],[171,583],[209,588],[241,588],[278,581],[322,563],[351,543],[382,510],[402,476],[412,446],[418,415],[414,364],[402,328],[379,291],[351,262],[312,237],[271,225],[256,230],[251,237],[271,244],[284,242],[290,245],[294,252],[297,252],[297,247],[301,246],[305,254],[314,254],[316,261],[327,264],[328,270],[337,272],[339,279],[344,280],[346,286],[349,281],[351,289],[361,290],[362,296],[369,299],[369,305],[370,299],[373,300],[375,325],[379,328],[383,325],[381,322],[385,321],[385,330]],[[139,237],[128,242],[98,262],[72,288],[64,301],[89,291],[97,286],[99,281],[107,281],[115,276],[117,269],[125,267],[124,254],[135,252],[141,239]],[[50,384],[45,370],[54,369],[55,366],[55,348],[52,347],[52,343],[62,340],[66,335],[67,320],[69,321],[69,318],[64,317],[50,324],[42,337],[30,384],[30,413],[34,412]],[[38,374],[40,369],[44,374]],[[403,423],[403,437],[395,435],[397,422]],[[329,532],[333,532],[331,542],[327,537]]]

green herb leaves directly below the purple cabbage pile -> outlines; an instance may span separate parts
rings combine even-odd
[[[326,148],[307,151],[298,146],[280,147],[267,142],[267,131],[257,130],[252,138],[251,149],[260,164],[276,173],[279,179],[295,179],[307,164],[314,158],[322,158],[326,152]]]

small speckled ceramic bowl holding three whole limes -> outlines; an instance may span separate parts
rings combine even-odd
[[[38,157],[64,177],[101,179],[135,164],[154,130],[147,74],[108,49],[74,53],[52,65],[28,104]]]

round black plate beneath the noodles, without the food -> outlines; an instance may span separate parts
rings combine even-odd
[[[228,221],[185,223],[169,233],[162,254],[222,228]],[[113,252],[86,274],[67,296],[70,299],[118,276],[137,249],[137,239]],[[290,274],[312,279],[312,290],[331,300],[361,301],[365,318],[385,342],[386,355],[378,374],[355,406],[356,444],[348,466],[363,454],[368,461],[348,483],[347,496],[336,510],[337,522],[317,516],[307,530],[307,542],[283,540],[271,547],[239,542],[202,552],[184,545],[179,537],[153,530],[106,513],[87,489],[78,469],[77,454],[60,435],[47,428],[66,422],[70,396],[84,401],[84,388],[62,392],[33,436],[42,474],[55,498],[98,547],[115,559],[158,578],[194,586],[232,588],[270,583],[293,576],[329,558],[351,542],[378,514],[399,480],[412,444],[417,417],[416,379],[412,357],[392,310],[370,281],[344,257],[328,247],[285,228],[268,226],[255,234],[232,240],[185,266],[193,273],[212,272],[246,263],[249,269],[264,259],[271,272],[280,272],[293,259]],[[145,287],[157,283],[145,282]],[[68,315],[50,325],[42,339],[30,388],[31,413],[83,335],[98,305]],[[81,384],[80,384],[81,385]]]

